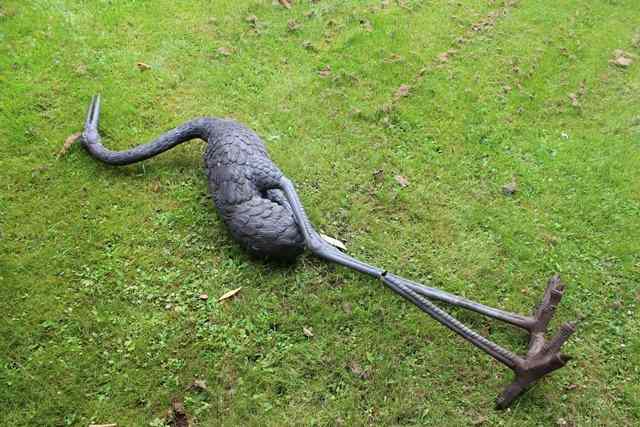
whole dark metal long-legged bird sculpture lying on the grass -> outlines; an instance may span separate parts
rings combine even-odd
[[[564,293],[558,276],[549,280],[542,302],[531,316],[510,313],[424,286],[374,267],[337,250],[315,231],[307,218],[293,183],[271,161],[262,140],[233,121],[201,118],[187,122],[127,151],[111,151],[100,142],[100,97],[94,97],[85,122],[82,144],[96,159],[127,165],[153,157],[195,139],[207,141],[204,153],[209,191],[231,234],[251,253],[275,259],[294,259],[308,248],[314,255],[375,277],[432,318],[480,348],[515,373],[514,381],[498,397],[497,407],[508,407],[543,376],[563,367],[570,359],[560,349],[575,331],[564,323],[550,340],[549,321]],[[430,300],[442,301],[509,323],[529,334],[526,356],[518,356],[471,330]]]

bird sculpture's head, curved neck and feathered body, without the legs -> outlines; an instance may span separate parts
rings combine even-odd
[[[249,252],[291,259],[304,250],[304,238],[279,187],[282,172],[271,161],[255,132],[233,120],[201,118],[172,129],[156,140],[126,151],[101,143],[97,121],[99,98],[88,112],[82,143],[96,159],[112,164],[136,163],[183,142],[207,141],[204,167],[214,204],[232,236]]]

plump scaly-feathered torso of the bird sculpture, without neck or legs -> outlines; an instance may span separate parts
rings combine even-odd
[[[209,191],[233,237],[250,252],[292,258],[304,249],[278,185],[282,172],[258,135],[231,120],[210,127],[204,152]]]

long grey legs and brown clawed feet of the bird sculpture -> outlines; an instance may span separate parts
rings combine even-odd
[[[563,286],[557,276],[549,281],[543,302],[531,318],[487,307],[438,289],[428,288],[356,260],[326,243],[309,222],[291,181],[282,177],[279,186],[291,206],[292,213],[301,229],[307,246],[315,255],[380,279],[391,290],[514,371],[515,380],[497,400],[499,409],[508,407],[518,396],[526,391],[528,386],[543,376],[563,367],[570,359],[568,356],[560,354],[560,348],[575,331],[574,324],[563,324],[560,331],[550,341],[545,341],[544,338],[547,324],[562,297]],[[530,333],[527,356],[525,358],[520,357],[481,336],[446,311],[425,299],[424,296],[468,308],[527,329]]]

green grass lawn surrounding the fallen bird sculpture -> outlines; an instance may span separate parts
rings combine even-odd
[[[160,426],[174,397],[207,426],[638,425],[638,6],[0,2],[0,425]],[[496,412],[511,372],[378,282],[245,254],[202,143],[58,159],[95,93],[114,149],[245,123],[322,232],[402,276],[526,314],[560,273],[574,361]]]

